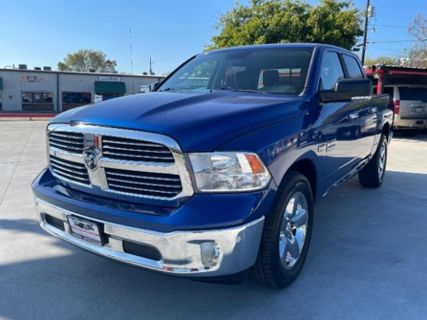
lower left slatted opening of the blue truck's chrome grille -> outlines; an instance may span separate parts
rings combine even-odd
[[[83,163],[69,161],[50,155],[50,165],[56,176],[85,185],[90,185],[88,169]]]

